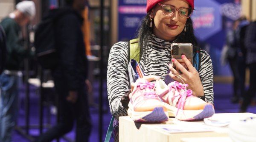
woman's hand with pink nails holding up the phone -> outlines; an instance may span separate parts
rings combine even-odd
[[[186,66],[184,66],[184,64],[183,65],[180,64],[175,58],[172,58],[172,63],[175,64],[175,66],[177,67],[178,70],[180,70],[180,72],[175,70],[171,64],[169,67],[170,68],[169,75],[175,81],[179,81],[181,83],[183,83],[181,81],[182,79],[185,82],[185,84],[189,85],[187,89],[191,89],[193,91],[193,95],[204,96],[204,88],[201,83],[198,71],[195,69],[195,67],[193,67],[193,65],[188,60],[188,58],[186,58],[185,55],[182,55],[181,58],[183,62],[186,64]],[[187,67],[187,69],[185,67]]]

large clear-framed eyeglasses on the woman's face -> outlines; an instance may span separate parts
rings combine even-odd
[[[175,11],[178,11],[180,17],[189,18],[194,10],[188,7],[175,8],[174,6],[163,5],[161,3],[158,3],[158,5],[162,6],[162,12],[165,16],[172,16],[175,13]]]

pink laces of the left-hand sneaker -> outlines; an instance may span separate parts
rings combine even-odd
[[[154,88],[154,83],[149,81],[139,82],[137,87],[139,87],[140,90],[144,90],[143,95],[145,99],[158,99],[156,93],[152,90]]]

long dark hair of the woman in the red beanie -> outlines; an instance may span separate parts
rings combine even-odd
[[[149,27],[150,24],[150,17],[149,14],[147,14],[142,22],[141,26],[137,31],[137,38],[139,39],[139,49],[140,50],[140,57],[143,54],[144,47],[148,43],[148,37],[153,33],[153,28]],[[154,26],[154,24],[153,24]],[[189,17],[186,21],[186,32],[183,30],[176,38],[176,42],[179,43],[192,43],[193,45],[193,51],[194,51],[194,61],[195,61],[195,54],[199,51],[199,46],[197,39],[194,34],[194,28],[192,19]],[[199,53],[200,56],[200,53]]]

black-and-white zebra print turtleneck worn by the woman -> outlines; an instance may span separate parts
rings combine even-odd
[[[171,63],[171,42],[152,35],[143,51],[140,65],[145,75],[157,75],[164,80]],[[201,68],[199,76],[204,87],[207,102],[213,103],[213,71],[209,54],[201,49]],[[121,97],[129,89],[128,82],[128,42],[117,42],[111,48],[108,58],[107,86],[108,100],[113,117],[127,116],[121,104]]]

